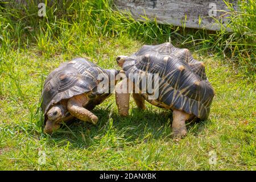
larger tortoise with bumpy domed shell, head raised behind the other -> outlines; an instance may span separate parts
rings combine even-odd
[[[126,75],[126,79],[117,84],[115,92],[120,115],[129,114],[129,97],[133,92],[134,101],[140,109],[146,109],[146,100],[157,107],[172,110],[174,138],[187,134],[186,121],[208,118],[214,90],[205,74],[204,63],[193,59],[188,49],[176,48],[171,43],[144,45],[133,55],[118,56],[116,60],[122,68],[120,73]],[[131,74],[151,74],[152,80],[158,74],[158,97],[151,99],[152,94],[142,92],[142,81],[130,78]],[[126,86],[129,82],[133,84],[133,89]],[[126,92],[122,92],[124,85]],[[136,88],[138,93],[134,92]]]

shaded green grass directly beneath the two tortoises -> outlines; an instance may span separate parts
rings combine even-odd
[[[97,125],[75,119],[57,130],[48,142],[58,146],[69,142],[72,147],[90,148],[133,146],[148,140],[171,139],[171,111],[136,108],[131,110],[129,117],[121,117],[109,109],[94,109],[93,113],[99,118]],[[205,122],[189,123],[189,132],[197,135]]]

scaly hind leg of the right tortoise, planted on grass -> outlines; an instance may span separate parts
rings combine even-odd
[[[185,121],[192,117],[192,114],[187,114],[184,111],[174,110],[172,111],[172,133],[175,139],[180,139],[187,135],[187,128]]]

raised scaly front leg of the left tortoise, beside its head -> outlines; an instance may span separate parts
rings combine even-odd
[[[89,121],[96,125],[98,117],[91,111],[82,107],[85,106],[87,102],[88,100],[83,94],[69,98],[67,103],[69,113],[82,121]]]

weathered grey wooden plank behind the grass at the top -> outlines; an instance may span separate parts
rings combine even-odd
[[[230,0],[236,9],[237,0]],[[143,16],[159,23],[173,24],[189,28],[220,30],[216,20],[227,22],[227,6],[222,0],[114,0],[121,11],[130,11],[135,19]]]

